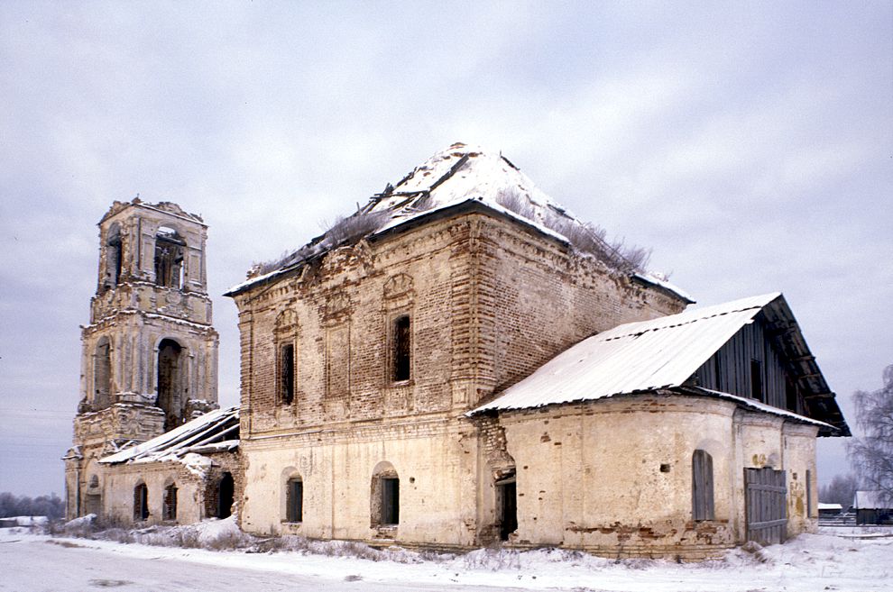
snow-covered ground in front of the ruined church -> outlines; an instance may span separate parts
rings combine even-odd
[[[547,550],[447,557],[397,551],[388,560],[339,557],[333,543],[316,551],[205,551],[4,529],[0,590],[893,591],[889,528],[828,528],[760,551],[730,551],[723,560],[688,564]]]

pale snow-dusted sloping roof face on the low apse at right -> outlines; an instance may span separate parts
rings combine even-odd
[[[472,414],[589,401],[680,387],[760,310],[781,296],[752,296],[599,333],[549,360]]]

